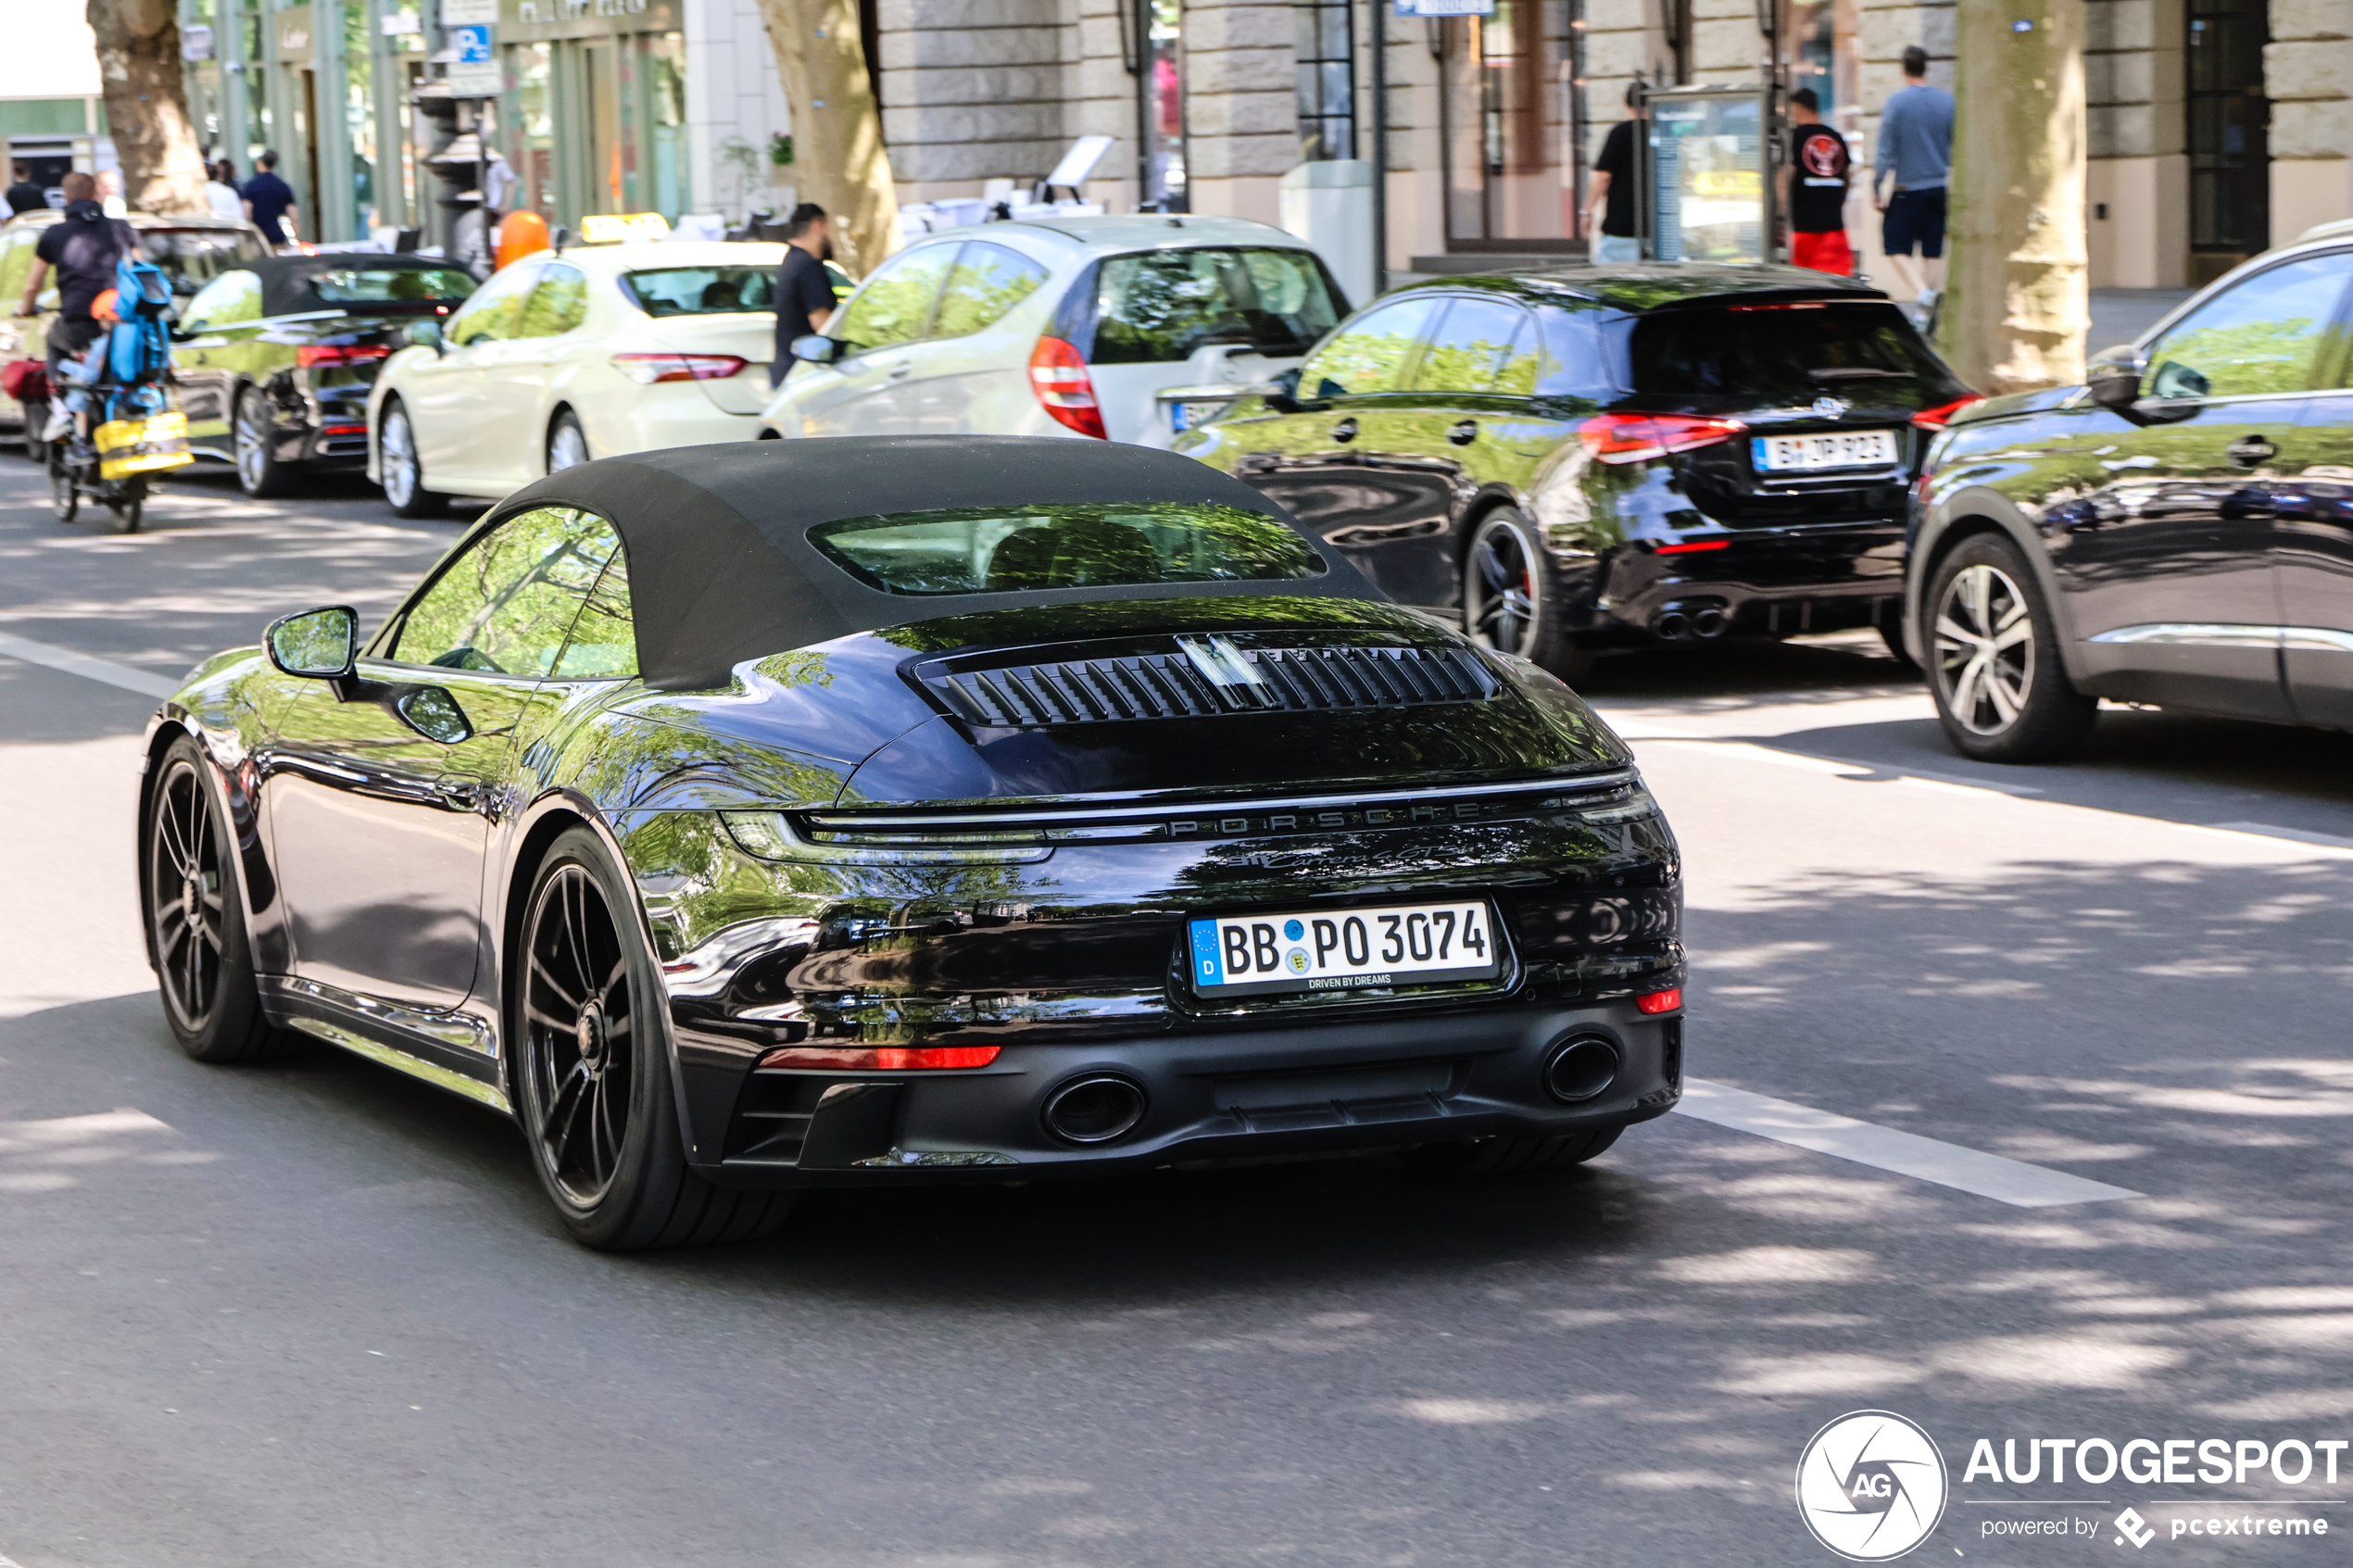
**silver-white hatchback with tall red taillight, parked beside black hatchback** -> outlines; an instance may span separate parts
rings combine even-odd
[[[1348,315],[1329,268],[1247,219],[1066,216],[925,235],[859,284],[762,437],[1092,435],[1167,447]]]

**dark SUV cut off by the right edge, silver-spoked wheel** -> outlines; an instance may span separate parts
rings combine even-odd
[[[1906,604],[1960,752],[2061,757],[2104,696],[2353,729],[2348,284],[2353,235],[2257,256],[1934,442]]]

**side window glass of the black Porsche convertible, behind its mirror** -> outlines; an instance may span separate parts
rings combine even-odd
[[[621,538],[595,512],[544,505],[508,517],[409,604],[393,658],[541,677],[619,552]]]

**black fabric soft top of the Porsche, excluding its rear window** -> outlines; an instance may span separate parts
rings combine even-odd
[[[1306,536],[1325,571],[1282,583],[1146,583],[918,599],[868,588],[807,541],[812,527],[842,517],[1151,501],[1264,512]],[[1174,451],[1113,442],[840,435],[638,451],[522,487],[466,538],[536,505],[579,505],[619,529],[638,621],[638,670],[666,691],[725,686],[729,670],[746,658],[981,609],[1266,592],[1386,597],[1240,480]]]

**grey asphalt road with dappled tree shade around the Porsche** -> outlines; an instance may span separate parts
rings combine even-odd
[[[374,616],[456,531],[224,477],[99,520],[0,458],[0,635],[162,677],[285,609]],[[2337,1486],[1962,1467],[2353,1436],[2353,741],[2113,712],[2078,766],[1979,769],[1859,639],[1591,691],[1687,851],[1692,1074],[1871,1124],[1866,1157],[1894,1128],[2137,1197],[1675,1114],[1567,1175],[826,1194],[772,1244],[595,1255],[471,1103],[176,1053],[132,903],[151,701],[0,656],[0,1556],[1831,1563],[1793,1467],[1887,1408],[1951,1465],[1913,1561],[2137,1561],[2127,1505],[2169,1563],[2341,1561],[2353,1453]],[[2172,1533],[2221,1512],[2334,1537]]]

